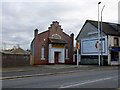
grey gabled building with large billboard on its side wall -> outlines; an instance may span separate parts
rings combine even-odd
[[[76,40],[80,43],[80,63],[115,65],[120,63],[120,24],[102,22],[98,43],[98,22],[86,20]],[[101,29],[100,29],[101,30]],[[100,49],[98,50],[98,46]]]

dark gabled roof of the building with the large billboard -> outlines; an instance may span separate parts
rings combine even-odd
[[[98,21],[86,20],[85,24],[86,23],[90,23],[94,27],[98,28]],[[82,29],[84,28],[85,24],[83,25]],[[81,31],[82,31],[82,29],[81,29]],[[80,31],[80,33],[81,33],[81,31]],[[106,35],[120,36],[120,24],[102,22],[102,31]],[[80,33],[78,34],[78,36],[80,35]],[[78,36],[76,37],[76,39],[78,38]]]

